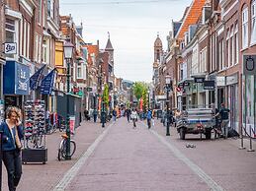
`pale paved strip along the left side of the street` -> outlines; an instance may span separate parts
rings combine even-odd
[[[63,191],[66,189],[68,184],[72,181],[72,179],[76,176],[79,169],[85,163],[85,161],[92,155],[96,147],[103,140],[103,138],[107,135],[110,128],[113,126],[114,122],[108,126],[108,128],[94,141],[94,143],[87,149],[87,151],[83,154],[83,156],[78,159],[75,164],[64,174],[63,178],[58,182],[53,191]]]

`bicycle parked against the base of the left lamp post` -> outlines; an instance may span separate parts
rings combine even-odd
[[[61,135],[62,140],[60,141],[59,147],[58,147],[58,154],[57,154],[57,159],[65,159],[67,155],[66,151],[66,144],[67,144],[67,135],[62,134]],[[70,157],[72,157],[75,153],[76,150],[76,143],[74,140],[70,140]]]

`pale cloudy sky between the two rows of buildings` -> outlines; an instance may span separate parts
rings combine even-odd
[[[152,81],[154,41],[163,49],[171,21],[180,21],[192,0],[60,0],[60,14],[83,24],[87,43],[105,49],[108,32],[114,48],[114,74],[133,82]]]

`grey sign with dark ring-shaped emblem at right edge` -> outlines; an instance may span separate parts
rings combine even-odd
[[[243,74],[256,75],[256,55],[243,55]]]

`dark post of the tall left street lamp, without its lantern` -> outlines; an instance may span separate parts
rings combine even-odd
[[[66,156],[65,159],[71,159],[70,156],[70,124],[69,124],[69,94],[70,94],[70,59],[67,59],[67,94],[66,94]]]

